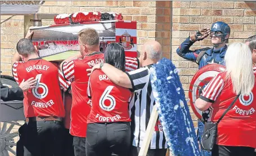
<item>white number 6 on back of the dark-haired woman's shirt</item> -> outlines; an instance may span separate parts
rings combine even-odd
[[[114,97],[112,95],[109,95],[109,93],[112,91],[114,86],[108,86],[105,91],[103,92],[103,94],[100,97],[100,108],[106,111],[111,111],[114,109],[114,106],[116,106],[116,99],[114,99]],[[106,106],[104,104],[105,100],[109,100],[111,102],[111,104],[109,106]]]

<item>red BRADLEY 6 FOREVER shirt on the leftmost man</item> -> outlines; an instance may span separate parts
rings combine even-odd
[[[28,117],[64,117],[65,110],[60,88],[68,89],[58,68],[41,58],[30,59],[27,62],[15,62],[12,74],[18,84],[23,79],[36,78],[36,87],[24,92],[24,115]],[[60,86],[60,87],[59,87]]]

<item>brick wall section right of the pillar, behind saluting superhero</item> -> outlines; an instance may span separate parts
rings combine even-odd
[[[179,44],[199,28],[210,28],[215,21],[224,21],[231,27],[229,43],[244,42],[246,38],[255,35],[255,9],[255,1],[173,1],[171,59],[180,68],[180,81],[187,97],[189,83],[198,66],[176,54]],[[193,44],[191,50],[208,46],[212,46],[210,37]],[[196,121],[195,114],[190,110],[193,121]],[[197,125],[196,122],[194,124]]]

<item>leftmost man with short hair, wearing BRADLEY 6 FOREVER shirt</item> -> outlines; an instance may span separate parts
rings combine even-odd
[[[16,82],[37,79],[36,87],[24,92],[26,121],[19,128],[17,155],[62,156],[65,110],[60,87],[68,90],[68,82],[55,65],[38,56],[30,39],[20,39],[16,49],[23,60],[12,66]]]

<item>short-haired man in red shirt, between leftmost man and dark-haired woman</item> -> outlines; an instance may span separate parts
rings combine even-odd
[[[76,156],[86,155],[85,143],[90,99],[87,96],[89,77],[85,72],[86,69],[103,62],[104,59],[104,54],[100,52],[99,34],[95,29],[82,29],[78,33],[78,43],[82,59],[71,57],[60,64],[60,70],[63,72],[65,79],[71,82],[72,108],[69,131],[74,136],[73,145]]]

